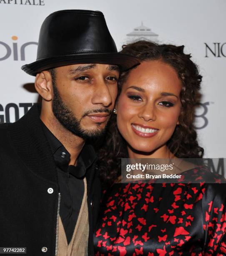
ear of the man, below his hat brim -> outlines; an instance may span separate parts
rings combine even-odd
[[[50,72],[43,71],[36,75],[35,89],[44,100],[50,101],[53,99],[53,84]]]

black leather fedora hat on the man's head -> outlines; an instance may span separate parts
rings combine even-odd
[[[41,26],[36,61],[21,69],[35,76],[43,70],[85,63],[114,64],[124,71],[139,61],[118,53],[100,11],[60,10]]]

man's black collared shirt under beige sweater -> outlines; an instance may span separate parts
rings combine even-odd
[[[60,187],[60,218],[63,223],[68,244],[73,236],[84,195],[84,177],[86,170],[96,159],[93,147],[85,144],[78,156],[76,166],[69,165],[70,153],[63,144],[44,125],[43,129],[50,144],[56,164]]]

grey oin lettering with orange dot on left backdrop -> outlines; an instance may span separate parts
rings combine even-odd
[[[10,58],[13,56],[13,60],[18,61],[25,61],[25,49],[27,46],[36,45],[38,46],[37,42],[26,42],[22,45],[18,45],[16,42],[18,40],[17,36],[12,36],[12,43],[6,44],[3,41],[0,41],[0,61]]]

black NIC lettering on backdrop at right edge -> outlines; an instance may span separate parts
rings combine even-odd
[[[205,44],[205,57],[226,57],[226,43]]]

